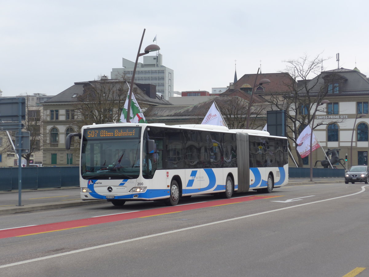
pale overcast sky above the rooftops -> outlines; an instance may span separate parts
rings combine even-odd
[[[326,70],[369,75],[368,0],[2,0],[3,96],[56,95],[74,82],[110,77],[157,44],[174,90],[225,87],[237,76],[283,71],[283,61],[320,53]],[[143,58],[139,58],[142,62]],[[356,64],[355,64],[356,62]]]

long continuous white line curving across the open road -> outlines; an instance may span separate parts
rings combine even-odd
[[[315,203],[319,203],[319,202],[330,201],[330,200],[334,200],[334,199],[338,199],[338,198],[343,198],[343,197],[347,197],[347,196],[361,194],[362,192],[365,191],[365,187],[369,187],[369,185],[362,186],[361,187],[361,191],[355,192],[353,194],[342,195],[342,196],[338,196],[338,197],[334,197],[334,198],[329,198],[329,199],[324,199],[324,200],[319,200],[319,201],[304,203],[304,204],[300,204],[300,205],[294,205],[294,206],[284,207],[284,208],[275,209],[275,210],[266,211],[266,212],[254,213],[252,215],[239,216],[237,218],[230,218],[230,219],[219,220],[219,221],[215,221],[215,222],[210,222],[210,223],[205,223],[205,224],[196,225],[196,226],[192,226],[192,227],[186,227],[186,228],[181,228],[181,229],[177,229],[177,230],[172,230],[172,231],[157,233],[157,234],[148,235],[148,236],[136,237],[134,239],[121,240],[120,242],[111,242],[111,243],[101,244],[101,245],[97,245],[97,246],[92,246],[92,247],[77,249],[77,250],[68,251],[68,252],[59,253],[59,254],[54,254],[54,255],[49,255],[49,256],[45,256],[45,257],[39,257],[39,258],[36,258],[36,259],[30,259],[30,260],[25,260],[25,261],[18,261],[16,263],[11,263],[11,264],[3,264],[2,266],[0,266],[0,269],[2,269],[4,267],[18,266],[20,264],[31,263],[31,262],[34,262],[34,261],[41,261],[41,260],[51,259],[51,258],[55,258],[55,257],[61,257],[61,256],[69,255],[69,254],[75,254],[75,253],[85,252],[85,251],[88,251],[88,250],[99,249],[99,248],[102,248],[102,247],[114,246],[114,245],[123,244],[123,243],[126,243],[126,242],[134,242],[136,240],[149,239],[151,237],[157,237],[157,236],[162,236],[162,235],[173,234],[173,233],[177,233],[177,232],[182,232],[182,231],[186,231],[186,230],[201,228],[201,227],[205,227],[205,226],[211,226],[211,225],[215,225],[215,224],[219,224],[219,223],[224,223],[224,222],[229,222],[229,221],[233,221],[233,220],[249,218],[251,216],[264,215],[266,213],[278,212],[278,211],[283,211],[283,210],[286,210],[286,209],[292,209],[292,208],[301,207],[301,206],[310,205],[310,204],[315,204]]]

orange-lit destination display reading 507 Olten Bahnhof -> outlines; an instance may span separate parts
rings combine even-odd
[[[85,129],[85,137],[87,138],[133,138],[139,137],[139,127],[107,127],[99,129]]]

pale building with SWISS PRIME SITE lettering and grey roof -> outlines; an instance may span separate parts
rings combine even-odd
[[[322,147],[312,153],[313,167],[315,163],[322,167],[320,161],[325,159],[324,152],[328,149],[337,149],[346,168],[368,165],[369,78],[357,68],[339,68],[323,71],[309,83],[314,84],[310,93],[324,93],[324,100],[329,100],[318,107],[314,118],[314,134]],[[300,112],[303,113],[303,109]],[[348,161],[345,161],[346,155]],[[308,158],[303,161],[304,166],[310,167]],[[342,168],[339,163],[335,166]]]

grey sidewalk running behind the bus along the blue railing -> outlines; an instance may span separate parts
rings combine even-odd
[[[344,178],[291,178],[288,185],[337,184]],[[79,187],[24,190],[19,201],[18,191],[0,192],[0,215],[44,209],[106,203],[106,200],[82,201]],[[276,190],[277,191],[277,190]],[[18,206],[21,204],[21,206]]]

